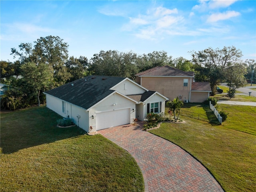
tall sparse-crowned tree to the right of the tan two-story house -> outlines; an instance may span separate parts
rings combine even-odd
[[[234,46],[222,49],[207,48],[202,51],[190,52],[192,62],[207,69],[207,81],[210,81],[212,94],[215,94],[215,87],[221,80],[225,79],[225,70],[236,63],[241,63],[242,52]]]

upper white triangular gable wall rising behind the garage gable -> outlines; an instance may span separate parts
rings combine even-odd
[[[121,82],[120,84],[114,86],[112,90],[116,90],[124,95],[142,94],[146,91],[144,88],[140,87],[137,83],[131,82],[130,80],[125,80]]]

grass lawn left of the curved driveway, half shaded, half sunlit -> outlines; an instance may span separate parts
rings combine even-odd
[[[101,135],[57,128],[45,106],[1,113],[0,191],[144,191],[132,156]]]

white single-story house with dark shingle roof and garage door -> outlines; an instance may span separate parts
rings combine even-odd
[[[168,100],[129,78],[86,76],[44,92],[46,106],[86,132],[144,120],[147,112],[164,112]]]

